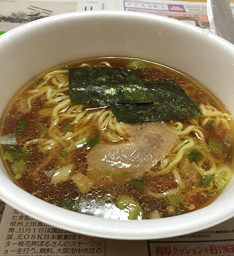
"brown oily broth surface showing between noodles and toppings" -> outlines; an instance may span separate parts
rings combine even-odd
[[[72,63],[68,63],[69,66],[80,66],[82,63],[86,63],[90,66],[102,66],[103,62],[108,62],[112,67],[126,68],[132,59],[128,58],[95,58],[95,59],[85,59],[79,60]],[[100,64],[102,63],[102,64]],[[146,80],[176,80],[180,86],[186,91],[192,100],[199,102],[199,104],[210,103],[217,110],[228,113],[225,106],[219,99],[212,94],[205,86],[201,85],[198,81],[184,75],[183,73],[177,72],[165,66],[154,64],[151,62],[146,62],[147,68],[136,70],[139,74],[143,75]],[[63,65],[64,66],[64,65]],[[52,68],[55,70],[60,67]],[[25,99],[29,95],[29,90],[35,89],[39,84],[38,81],[42,79],[43,74],[37,76],[33,81],[30,81],[24,85],[13,97],[13,99],[8,103],[3,115],[2,115],[2,125],[1,125],[1,136],[7,134],[16,134],[17,131],[17,120],[29,120],[27,131],[22,133],[17,137],[17,146],[12,150],[13,152],[22,151],[23,145],[26,141],[39,138],[40,132],[38,130],[38,123],[43,123],[47,128],[50,126],[50,118],[46,115],[42,117],[41,109],[47,102],[45,95],[36,97],[32,103],[32,109],[30,112],[23,112],[22,108],[25,107]],[[50,85],[50,82],[49,82]],[[64,92],[65,95],[69,95],[68,91]],[[20,105],[20,106],[19,106]],[[47,112],[52,111],[53,104],[46,106]],[[95,111],[95,110],[94,110]],[[40,114],[39,114],[40,113]],[[184,127],[190,124],[189,119],[179,120]],[[71,120],[64,118],[59,122],[57,129],[64,136],[66,132],[63,131],[62,127],[64,124],[71,123]],[[229,126],[224,125],[212,125],[210,128],[203,126],[203,134],[205,141],[208,144],[209,138],[214,139],[219,144],[222,145],[222,154],[217,154],[211,151],[212,161],[225,163],[230,169],[233,168],[233,121],[228,120]],[[108,129],[108,128],[106,128]],[[88,130],[89,138],[98,132],[97,126],[92,126]],[[192,134],[190,134],[192,135]],[[43,135],[45,139],[50,139],[46,134]],[[110,142],[108,139],[100,135],[100,140],[103,144],[110,144],[116,142]],[[194,135],[195,136],[195,135]],[[120,142],[121,143],[121,142]],[[65,143],[66,146],[66,143]],[[54,173],[56,168],[63,165],[73,166],[73,174],[82,173],[86,175],[87,172],[87,155],[89,150],[82,146],[78,149],[72,150],[67,158],[62,158],[58,152],[66,149],[64,145],[59,144],[58,147],[51,150],[46,150],[42,152],[37,145],[37,142],[30,144],[29,152],[30,157],[26,158],[25,164],[27,166],[27,171],[22,175],[16,176],[12,172],[12,162],[4,160],[4,154],[7,152],[7,148],[2,146],[2,161],[7,169],[9,175],[13,178],[15,183],[21,187],[23,190],[39,197],[51,204],[65,207],[70,210],[84,212],[87,214],[93,214],[96,216],[102,216],[107,218],[117,218],[122,219],[115,215],[115,213],[108,213],[109,209],[111,211],[117,207],[117,198],[120,195],[128,195],[132,197],[141,206],[143,211],[143,219],[152,218],[152,213],[158,211],[161,217],[169,217],[178,214],[179,204],[170,204],[168,199],[165,197],[154,198],[146,193],[146,190],[150,190],[153,193],[164,193],[170,190],[175,190],[179,187],[178,182],[176,182],[173,173],[169,172],[167,174],[162,174],[159,176],[150,176],[145,174],[139,177],[138,181],[145,185],[145,189],[132,185],[132,183],[124,182],[117,185],[111,185],[109,187],[102,188],[100,185],[94,186],[84,195],[77,189],[76,184],[68,179],[65,182],[51,184],[51,173]],[[10,153],[12,151],[9,151]],[[14,159],[18,161],[18,159]],[[152,171],[157,171],[160,167],[158,163]],[[183,161],[180,161],[176,168],[180,170],[183,168]],[[203,168],[209,170],[210,162],[206,161],[203,164]],[[222,189],[217,189],[215,185],[209,185],[205,188],[198,188],[198,183],[202,176],[196,171],[189,170],[180,173],[183,183],[186,185],[181,188],[180,193],[183,195],[183,205],[186,205],[184,212],[190,212],[200,209],[208,204],[210,204],[222,191]],[[71,199],[77,200],[76,203],[70,204]],[[59,203],[60,202],[60,203]],[[101,209],[101,210],[100,210]],[[96,211],[96,213],[95,213]],[[114,210],[113,210],[114,211]],[[181,210],[182,213],[184,213]]]

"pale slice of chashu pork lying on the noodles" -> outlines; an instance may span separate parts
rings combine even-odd
[[[99,187],[139,178],[179,143],[178,136],[164,122],[121,123],[121,126],[130,136],[129,141],[117,145],[96,144],[88,154],[87,176],[96,180]],[[118,177],[117,174],[123,173],[126,176]]]

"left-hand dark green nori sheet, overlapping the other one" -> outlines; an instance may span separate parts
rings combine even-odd
[[[153,102],[144,78],[123,68],[69,68],[69,92],[72,103],[91,106]]]

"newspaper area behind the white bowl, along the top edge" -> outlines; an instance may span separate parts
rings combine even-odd
[[[204,29],[209,28],[205,2],[169,0],[0,0],[0,34],[43,17],[90,10],[144,12],[168,16]]]

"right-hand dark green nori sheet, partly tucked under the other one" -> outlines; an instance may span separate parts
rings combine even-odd
[[[117,121],[125,123],[177,120],[201,115],[197,104],[173,80],[146,81],[153,103],[116,104],[111,108]]]

